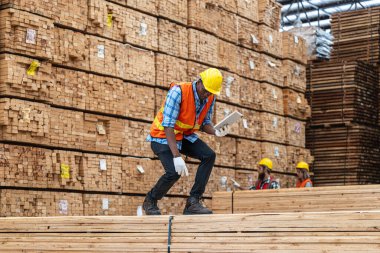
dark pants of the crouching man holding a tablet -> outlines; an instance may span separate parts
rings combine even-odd
[[[175,171],[173,154],[170,151],[169,145],[151,142],[151,148],[160,159],[162,166],[165,169],[165,174],[160,177],[156,185],[148,193],[148,196],[153,200],[160,200],[170,190],[174,183],[178,181],[180,175]],[[195,176],[193,188],[190,192],[190,196],[200,198],[206,189],[207,182],[215,163],[215,152],[201,139],[196,140],[194,143],[183,139],[182,150],[180,150],[180,152],[181,154],[201,161]]]

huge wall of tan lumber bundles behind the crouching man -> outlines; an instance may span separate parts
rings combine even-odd
[[[295,163],[312,161],[305,48],[278,31],[280,9],[274,0],[0,0],[0,215],[70,205],[62,215],[136,215],[163,173],[145,139],[169,85],[209,67],[224,76],[213,122],[235,110],[244,119],[225,138],[201,134],[217,154],[206,201],[233,189],[230,178],[256,179],[264,156],[293,187]],[[189,195],[198,161],[186,162],[190,177],[159,203],[166,214],[182,213]]]

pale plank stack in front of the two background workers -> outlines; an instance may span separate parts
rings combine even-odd
[[[379,196],[378,185],[325,186],[215,192],[212,205],[217,214],[374,211]]]

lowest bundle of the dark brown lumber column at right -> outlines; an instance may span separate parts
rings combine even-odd
[[[379,129],[359,124],[310,128],[315,184],[380,183]]]

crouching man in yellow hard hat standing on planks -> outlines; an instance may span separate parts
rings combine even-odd
[[[215,152],[195,132],[223,137],[229,127],[215,130],[211,122],[215,95],[222,89],[223,77],[218,69],[209,68],[194,82],[171,84],[166,99],[154,119],[147,140],[165,169],[143,203],[146,215],[160,215],[160,200],[188,170],[181,154],[200,160],[194,185],[187,199],[184,214],[211,214],[201,197],[215,162]]]

